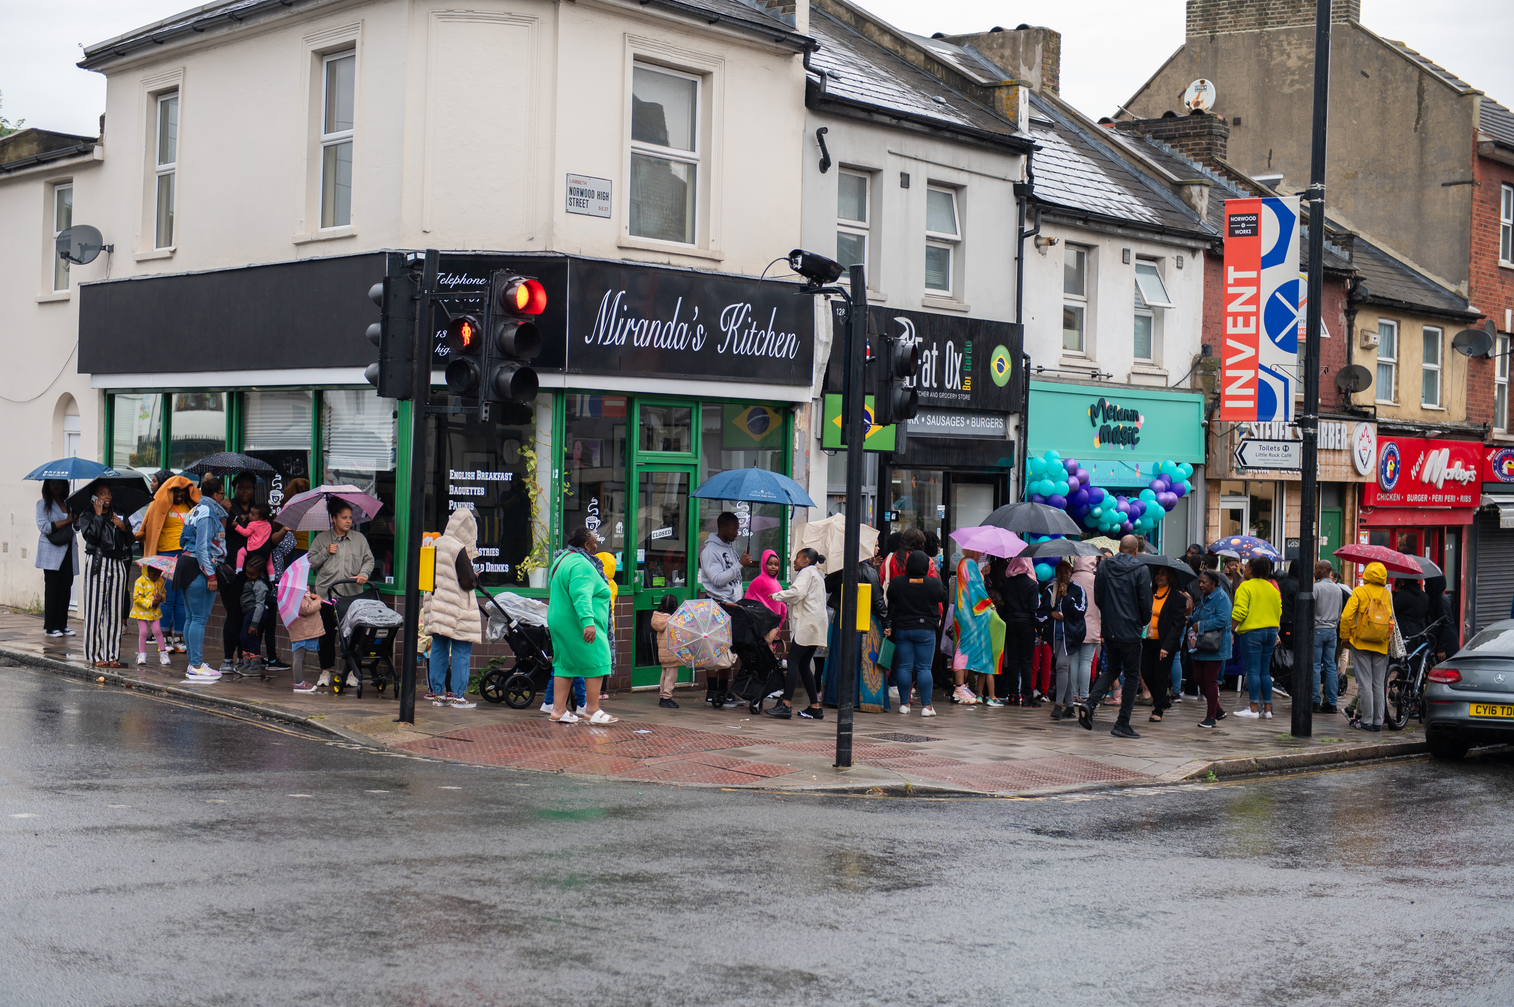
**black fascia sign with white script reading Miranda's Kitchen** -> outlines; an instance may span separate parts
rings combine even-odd
[[[442,256],[438,283],[457,295],[445,306],[478,310],[494,270],[547,288],[537,371],[765,385],[808,385],[815,373],[813,300],[793,283],[566,256]],[[431,323],[445,363],[445,310]]]

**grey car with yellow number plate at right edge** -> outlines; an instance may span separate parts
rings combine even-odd
[[[1514,619],[1494,622],[1431,668],[1423,713],[1425,739],[1437,759],[1514,742]]]

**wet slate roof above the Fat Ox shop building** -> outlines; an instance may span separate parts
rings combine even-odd
[[[815,73],[810,80],[822,85],[827,98],[904,112],[943,126],[964,126],[1007,139],[1019,136],[1008,120],[819,8],[810,8],[810,35],[821,44],[810,56],[810,67],[825,71],[824,82]]]

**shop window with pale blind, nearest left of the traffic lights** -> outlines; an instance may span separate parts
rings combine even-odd
[[[356,486],[383,501],[372,521],[356,527],[374,553],[372,580],[386,581],[395,569],[395,401],[372,389],[321,394],[321,483]]]

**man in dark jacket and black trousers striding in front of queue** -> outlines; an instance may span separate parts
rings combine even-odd
[[[1140,542],[1134,535],[1120,539],[1120,551],[1099,563],[1093,574],[1093,603],[1099,606],[1104,650],[1108,662],[1089,692],[1089,701],[1078,706],[1078,724],[1093,730],[1093,712],[1110,694],[1110,686],[1126,674],[1120,691],[1120,715],[1110,734],[1140,737],[1131,730],[1131,707],[1140,691],[1140,639],[1151,622],[1151,571],[1136,559]]]

